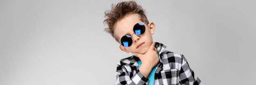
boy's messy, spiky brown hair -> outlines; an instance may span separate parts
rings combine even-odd
[[[137,14],[141,21],[148,23],[148,19],[145,15],[145,10],[141,5],[138,5],[135,1],[119,2],[111,5],[111,10],[105,11],[106,20],[103,23],[108,27],[104,31],[108,32],[117,42],[119,42],[117,36],[114,35],[114,27],[118,20],[121,20],[129,14]]]

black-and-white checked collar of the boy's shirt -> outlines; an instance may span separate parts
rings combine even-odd
[[[160,55],[164,51],[166,46],[162,43],[155,42],[155,48],[157,48],[157,52]],[[132,55],[130,58],[126,59],[125,62],[123,62],[123,63],[133,65],[133,64],[135,64],[135,62],[137,62],[138,59],[139,58],[137,56]]]

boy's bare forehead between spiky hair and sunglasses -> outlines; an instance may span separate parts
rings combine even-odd
[[[137,14],[125,16],[116,23],[114,34],[118,39],[126,34],[132,34],[133,26],[138,22],[143,23]]]

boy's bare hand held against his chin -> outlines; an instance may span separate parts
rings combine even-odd
[[[157,49],[155,48],[155,42],[150,45],[148,51],[145,54],[134,53],[134,55],[139,57],[141,60],[141,66],[143,65],[151,69],[155,67],[159,61]]]

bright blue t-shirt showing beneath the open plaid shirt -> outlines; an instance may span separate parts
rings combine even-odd
[[[158,55],[158,53],[157,53],[157,55]],[[159,55],[158,55],[158,57],[159,57]],[[138,67],[140,67],[141,66],[141,61],[137,61],[137,63],[138,63]],[[153,69],[151,70],[151,72],[148,75],[148,80],[150,80],[148,85],[154,85],[154,81],[155,81],[155,68],[156,68],[156,66],[153,67]]]

